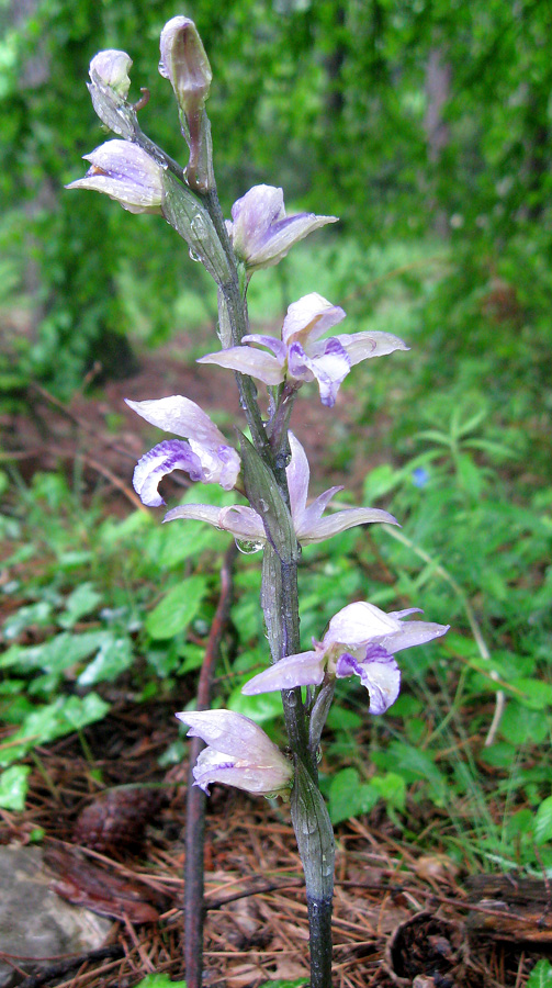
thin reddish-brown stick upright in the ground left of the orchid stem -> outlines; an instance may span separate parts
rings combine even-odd
[[[232,599],[232,569],[237,549],[234,542],[224,557],[221,569],[221,594],[211,626],[205,656],[198,683],[198,710],[211,706],[213,670],[228,620]],[[192,768],[204,748],[201,738],[190,741],[190,770],[188,773],[188,796],[185,815],[185,864],[184,864],[184,959],[188,988],[201,988],[203,974],[203,843],[205,830],[205,794],[193,785]]]

